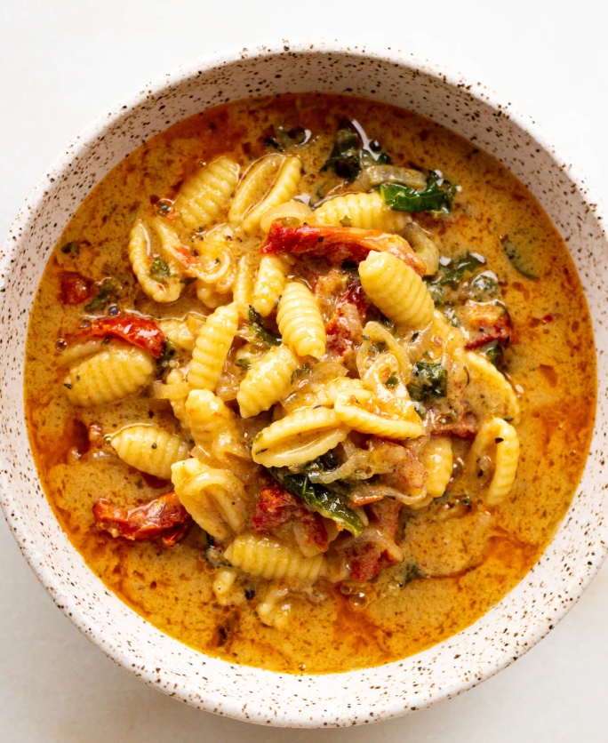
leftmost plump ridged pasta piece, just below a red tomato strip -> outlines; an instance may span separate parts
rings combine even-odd
[[[114,403],[145,387],[155,369],[148,351],[112,341],[99,354],[71,367],[63,386],[74,405]]]

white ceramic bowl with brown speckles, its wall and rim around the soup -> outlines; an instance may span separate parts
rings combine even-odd
[[[38,482],[23,414],[29,309],[53,244],[93,186],[133,148],[185,116],[277,92],[355,93],[429,116],[497,156],[564,236],[587,293],[596,342],[606,348],[608,255],[602,218],[584,180],[531,119],[480,84],[395,50],[284,42],[219,54],[144,86],[73,142],[38,182],[0,256],[0,487],[2,507],[32,569],[101,650],[144,681],[196,707],[253,723],[338,726],[428,707],[484,681],[529,650],[579,598],[605,555],[603,445],[608,396],[580,488],[540,562],[472,627],[387,666],[293,676],[208,658],[164,635],[110,593],[60,529]],[[600,390],[608,379],[598,356]]]

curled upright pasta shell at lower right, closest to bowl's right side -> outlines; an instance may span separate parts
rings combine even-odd
[[[505,499],[515,482],[519,461],[519,438],[516,429],[501,418],[486,420],[479,428],[468,451],[467,469],[472,482],[478,480],[486,458],[493,464],[493,475],[484,494],[488,506],[496,506]]]

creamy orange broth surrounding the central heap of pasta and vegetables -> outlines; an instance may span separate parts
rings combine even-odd
[[[61,305],[58,276],[61,270],[92,281],[114,276],[124,289],[120,306],[143,314],[181,317],[200,308],[192,292],[163,306],[136,291],[126,257],[136,214],[152,214],[157,198],[174,197],[199,161],[228,154],[246,165],[262,156],[274,124],[312,132],[310,148],[299,152],[306,173],[300,190],[312,192],[324,178],[318,171],[343,117],[360,122],[394,163],[438,169],[460,185],[460,206],[453,219],[441,222],[436,241],[444,256],[464,250],[484,255],[486,268],[499,276],[519,336],[506,351],[506,368],[520,395],[521,455],[508,498],[489,509],[495,526],[487,544],[476,546],[468,512],[465,521],[456,505],[457,517],[447,519],[448,506],[438,503],[412,515],[404,543],[405,563],[427,565],[436,577],[404,580],[401,564],[342,592],[321,584],[312,601],[296,598],[288,629],[279,631],[261,624],[255,600],[227,607],[214,601],[213,568],[204,560],[204,532],[197,527],[171,549],[127,543],[95,528],[92,505],[100,497],[133,507],[171,490],[170,483],[157,483],[109,456],[103,436],[139,421],[169,430],[176,423],[168,403],[145,393],[96,408],[70,406],[55,344],[82,322],[83,306]],[[501,236],[516,241],[538,280],[513,268]],[[70,243],[78,248],[65,252]],[[44,490],[69,539],[108,588],[156,627],[206,654],[276,671],[330,673],[403,659],[454,635],[530,570],[580,480],[593,427],[596,362],[587,304],[564,242],[506,168],[407,111],[302,94],[240,101],[193,116],[141,145],[100,182],[45,269],[29,323],[25,389]],[[467,448],[455,443],[455,461]],[[478,547],[481,554],[475,555]]]

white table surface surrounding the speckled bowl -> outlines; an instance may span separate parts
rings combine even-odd
[[[479,80],[544,124],[604,202],[608,6],[539,0],[0,0],[0,233],[68,140],[148,78],[305,36],[384,44]],[[269,730],[164,697],[55,607],[0,516],[0,743],[608,741],[608,568],[539,646],[438,707],[373,727]]]

